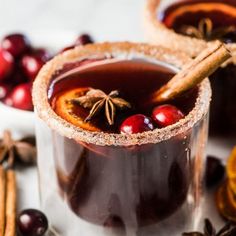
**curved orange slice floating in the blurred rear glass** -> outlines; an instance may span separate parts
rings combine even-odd
[[[220,11],[226,15],[230,15],[232,17],[236,17],[236,8],[224,3],[196,3],[191,5],[182,5],[178,7],[175,11],[171,12],[165,23],[167,26],[171,27],[175,20],[179,17],[185,14],[186,12],[189,13],[196,13],[198,11],[203,12],[211,12],[211,11]]]

